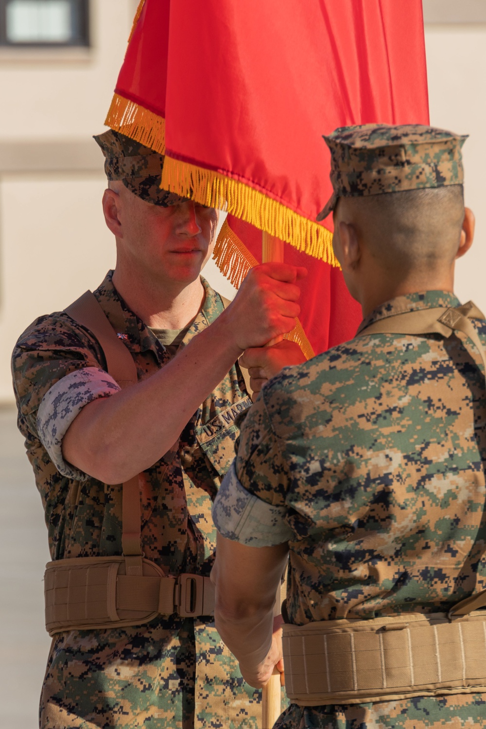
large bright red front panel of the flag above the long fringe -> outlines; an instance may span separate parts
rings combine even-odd
[[[167,154],[309,219],[331,195],[323,134],[428,124],[422,0],[173,2],[168,53]]]

